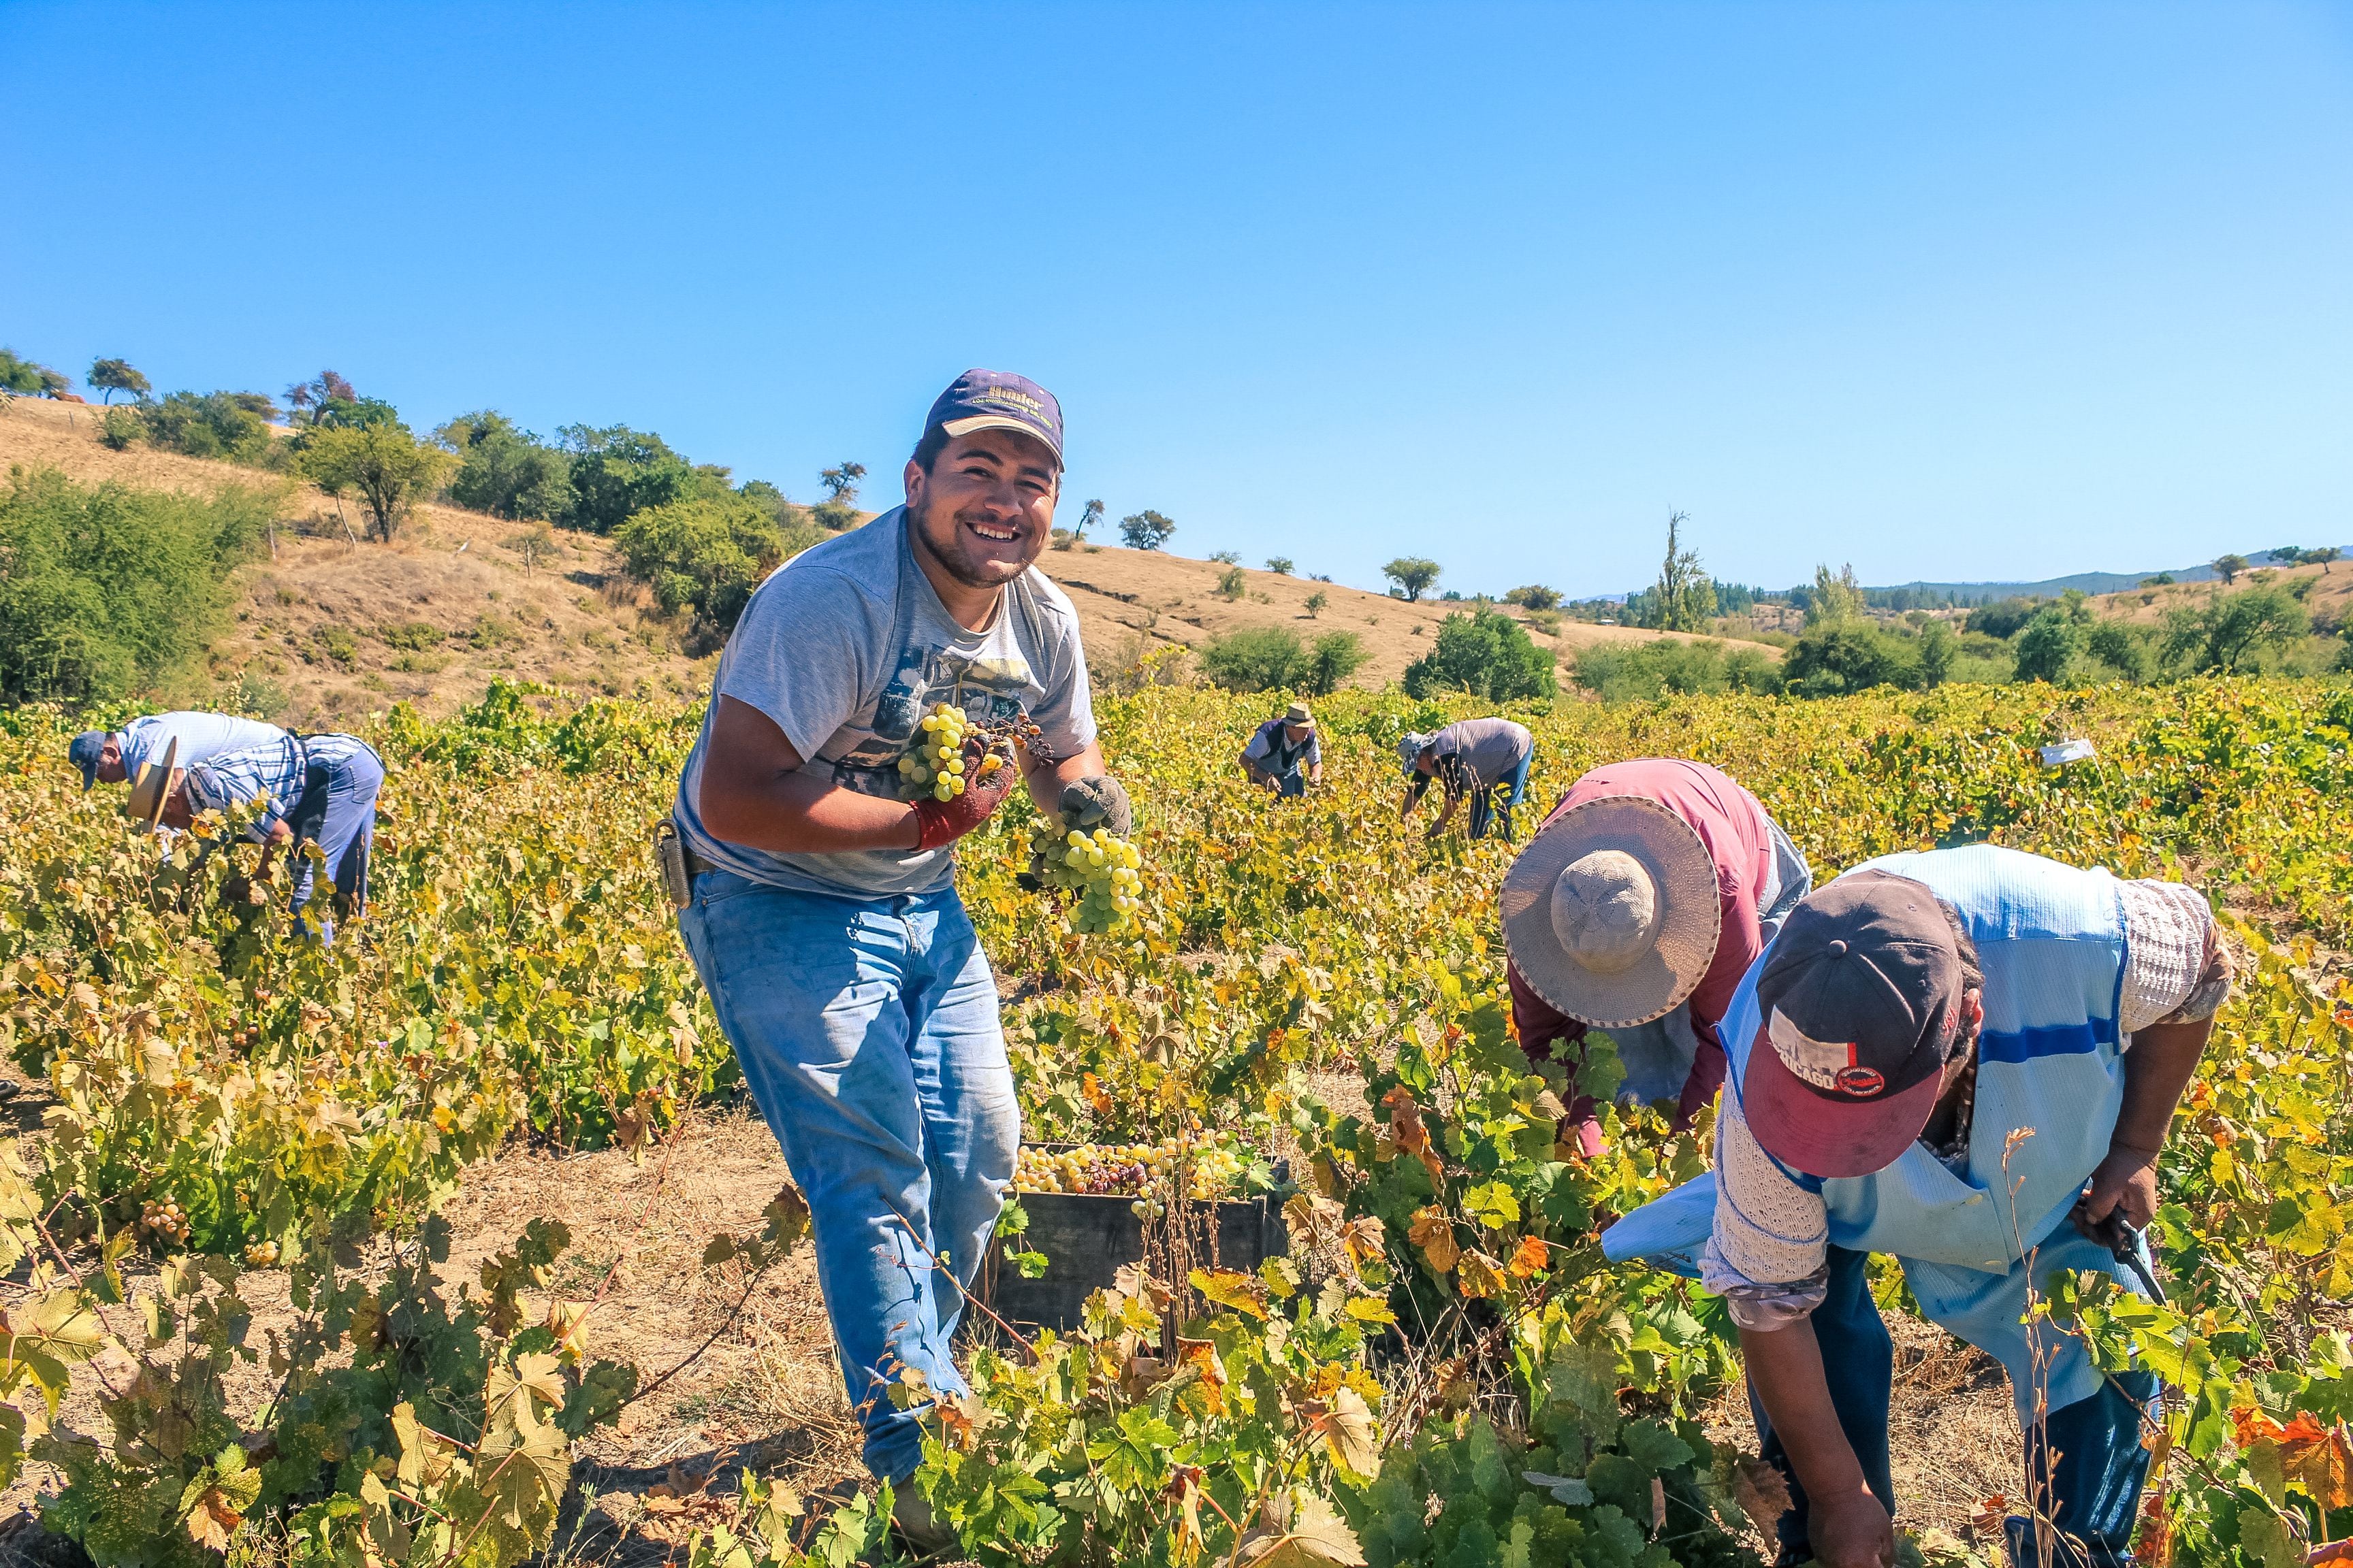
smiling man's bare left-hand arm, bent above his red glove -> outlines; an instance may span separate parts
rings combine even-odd
[[[696,811],[715,837],[781,856],[915,849],[915,809],[800,771],[802,757],[751,703],[722,696]]]

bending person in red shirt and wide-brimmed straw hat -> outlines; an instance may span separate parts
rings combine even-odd
[[[1520,1048],[1609,1030],[1621,1098],[1678,1100],[1687,1124],[1725,1081],[1718,1027],[1748,964],[1814,872],[1755,795],[1706,762],[1593,769],[1504,877],[1504,947]],[[1574,1084],[1574,1074],[1572,1074]],[[1591,1098],[1569,1117],[1602,1152]]]

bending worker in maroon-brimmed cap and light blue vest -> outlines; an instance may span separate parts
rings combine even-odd
[[[1892,1347],[1868,1265],[2009,1373],[2014,1563],[2129,1563],[2155,1373],[2101,1373],[2033,1312],[2054,1274],[2155,1293],[2139,1229],[2231,961],[2207,900],[1977,844],[1882,856],[1809,893],[1725,1016],[1715,1171],[1602,1232],[1725,1298],[1781,1561],[1897,1561]]]

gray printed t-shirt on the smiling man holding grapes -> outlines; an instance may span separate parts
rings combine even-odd
[[[807,762],[802,773],[901,799],[899,757],[934,703],[972,719],[1028,712],[1038,745],[1071,757],[1094,741],[1078,611],[1038,569],[1005,585],[986,630],[967,632],[922,576],[906,508],[779,567],[744,609],[711,684],[704,733],[678,778],[673,816],[696,856],[769,886],[842,898],[929,893],[955,875],[948,849],[781,856],[727,844],[699,811],[718,701],[758,708]]]

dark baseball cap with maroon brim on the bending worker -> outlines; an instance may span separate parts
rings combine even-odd
[[[1854,872],[1791,910],[1758,976],[1741,1114],[1807,1175],[1885,1171],[1920,1138],[1962,1041],[1960,940],[1937,893]]]

